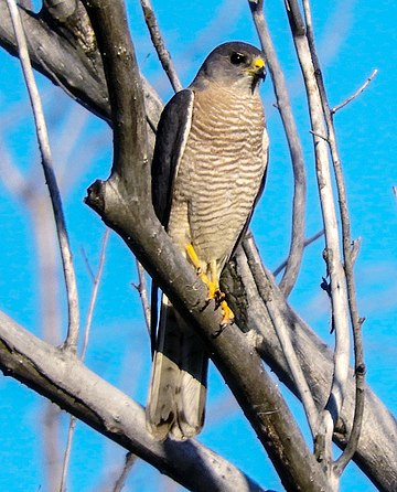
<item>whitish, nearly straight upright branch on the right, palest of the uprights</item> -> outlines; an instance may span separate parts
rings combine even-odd
[[[307,1],[304,0],[303,3],[307,4]],[[346,279],[341,260],[326,141],[318,137],[318,135],[326,135],[326,127],[323,121],[321,95],[315,78],[315,66],[313,66],[308,39],[304,31],[302,33],[301,30],[302,18],[297,0],[290,0],[289,6],[293,6],[292,10],[287,8],[287,14],[307,87],[312,130],[315,133],[313,135],[315,168],[326,244],[324,259],[330,277],[332,320],[335,327],[334,377],[329,400],[322,413],[316,439],[316,454],[323,461],[330,480],[333,482],[334,479],[336,480],[336,475],[332,472],[331,467],[333,427],[341,414],[348,378],[350,333]]]

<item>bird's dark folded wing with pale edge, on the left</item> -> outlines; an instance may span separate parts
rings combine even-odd
[[[161,224],[168,227],[173,184],[192,124],[194,93],[176,93],[161,115],[152,161],[152,200]]]

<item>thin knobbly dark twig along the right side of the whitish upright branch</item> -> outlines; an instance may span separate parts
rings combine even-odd
[[[344,259],[344,270],[346,277],[346,287],[347,287],[347,302],[348,302],[348,311],[350,319],[353,328],[353,341],[354,341],[354,357],[355,357],[355,379],[356,379],[356,402],[355,402],[355,411],[353,418],[352,431],[350,435],[350,439],[345,450],[343,451],[340,459],[335,462],[335,467],[333,467],[333,472],[335,475],[340,475],[348,461],[353,458],[357,446],[358,439],[363,423],[363,411],[364,411],[364,377],[365,377],[365,364],[364,364],[364,353],[363,353],[363,340],[362,340],[362,323],[363,319],[358,315],[358,308],[356,301],[355,293],[355,285],[354,285],[354,272],[353,272],[353,264],[355,260],[356,253],[352,252],[352,236],[351,236],[351,225],[350,225],[350,215],[347,207],[347,196],[346,189],[342,172],[342,164],[339,154],[339,149],[336,145],[336,136],[335,128],[333,124],[333,113],[330,109],[324,81],[321,73],[321,67],[319,63],[319,58],[316,55],[315,46],[314,46],[314,35],[313,28],[311,23],[311,12],[309,0],[303,0],[303,8],[307,18],[307,31],[308,31],[308,40],[311,56],[314,65],[314,74],[318,83],[318,87],[320,90],[320,98],[323,108],[323,114],[325,117],[325,122],[328,127],[328,141],[331,150],[331,157],[335,173],[336,181],[336,190],[339,195],[339,205],[340,205],[340,215],[342,223],[342,244],[343,244],[343,259]],[[365,87],[364,87],[365,88]],[[362,92],[362,90],[360,90]],[[360,94],[358,92],[358,94]],[[344,334],[346,336],[346,334]],[[348,336],[348,335],[347,335]],[[337,333],[336,333],[336,344],[337,344]],[[344,342],[346,343],[346,342]],[[337,346],[335,351],[337,350]],[[335,355],[336,360],[336,355]],[[336,364],[343,364],[344,361],[336,361]],[[348,364],[348,361],[347,361]]]

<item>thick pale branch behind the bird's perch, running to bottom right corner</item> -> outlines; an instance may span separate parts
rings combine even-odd
[[[278,378],[299,398],[293,377],[283,356],[280,342],[267,309],[259,296],[258,284],[266,286],[264,275],[255,270],[255,279],[248,259],[239,250],[235,261],[223,275],[227,297],[242,330],[254,330],[258,334],[257,346],[261,357]],[[302,366],[316,407],[326,403],[333,374],[333,351],[283,300],[278,286],[271,282],[272,302],[277,304],[292,339],[296,354]],[[276,292],[276,293],[275,293]],[[237,301],[238,304],[235,302]],[[348,374],[347,396],[343,404],[340,423],[333,435],[334,442],[344,449],[352,429],[355,406],[355,379],[353,370]],[[397,483],[397,423],[368,386],[365,387],[363,429],[354,461],[379,490],[393,490]],[[379,467],[379,459],[382,467]]]

